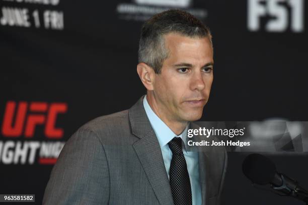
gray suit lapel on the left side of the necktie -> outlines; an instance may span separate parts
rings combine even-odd
[[[173,204],[162,151],[146,116],[142,99],[143,97],[128,111],[132,133],[139,138],[133,144],[133,148],[159,202],[162,205]]]

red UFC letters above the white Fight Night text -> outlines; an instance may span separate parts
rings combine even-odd
[[[45,124],[44,132],[47,138],[62,138],[63,129],[56,128],[55,123],[57,115],[67,111],[66,103],[31,102],[28,105],[27,102],[19,102],[17,109],[16,104],[14,101],[7,103],[2,125],[4,136],[21,136],[25,126],[25,137],[32,138],[36,125]],[[31,112],[29,114],[27,114],[28,109]],[[15,112],[15,123],[13,125]]]

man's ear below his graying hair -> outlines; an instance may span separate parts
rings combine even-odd
[[[140,62],[137,64],[137,73],[144,87],[147,90],[153,90],[153,83],[155,81],[154,70],[144,62]]]

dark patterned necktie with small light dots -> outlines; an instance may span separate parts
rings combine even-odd
[[[173,138],[168,145],[172,152],[169,177],[174,204],[192,204],[190,180],[182,150],[182,139]]]

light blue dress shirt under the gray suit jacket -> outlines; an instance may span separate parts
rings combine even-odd
[[[177,135],[165,124],[165,122],[163,122],[155,114],[155,112],[153,112],[153,110],[151,109],[146,100],[146,96],[143,98],[143,107],[145,109],[146,115],[150,121],[150,124],[161,146],[164,164],[169,178],[169,169],[172,159],[172,152],[168,146],[168,143],[175,136],[182,138],[183,142],[185,143],[187,137],[187,129],[189,125],[187,124],[184,131],[180,135]],[[186,160],[187,170],[191,184],[192,204],[200,205],[202,203],[202,196],[201,196],[201,186],[199,181],[200,178],[199,178],[198,153],[187,152],[186,150],[184,150],[183,153]]]

